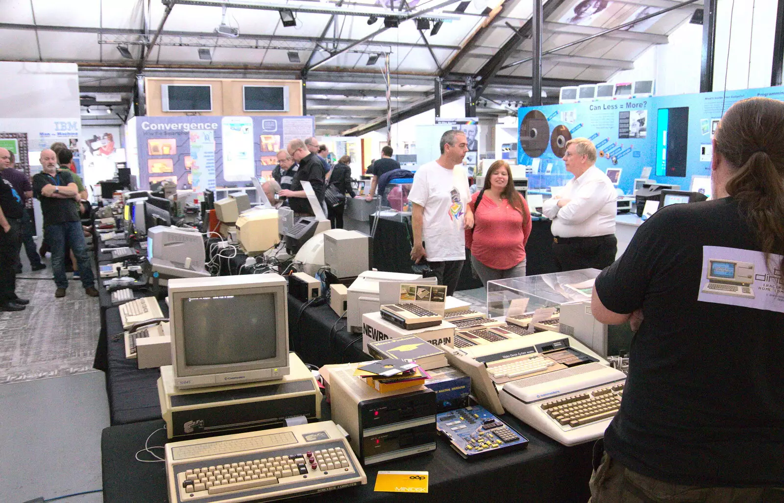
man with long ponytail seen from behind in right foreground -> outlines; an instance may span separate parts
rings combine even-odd
[[[637,333],[593,503],[784,501],[784,103],[727,110],[711,177],[596,279],[593,316]]]

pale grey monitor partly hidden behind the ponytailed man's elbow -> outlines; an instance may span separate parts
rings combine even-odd
[[[602,358],[629,353],[634,335],[629,322],[620,325],[599,323],[590,310],[590,301],[561,304],[558,331],[571,335]]]

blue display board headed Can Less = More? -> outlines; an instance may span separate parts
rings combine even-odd
[[[625,194],[644,167],[648,178],[688,190],[691,176],[710,175],[710,143],[724,111],[753,96],[784,100],[784,88],[524,107],[517,111],[517,164],[534,168],[531,188],[564,185],[573,177],[561,158],[565,142],[582,136],[600,154],[597,168],[622,170]]]

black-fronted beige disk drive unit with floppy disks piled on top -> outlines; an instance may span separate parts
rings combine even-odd
[[[363,465],[435,451],[435,392],[425,387],[379,393],[354,370],[331,372],[332,421],[350,434]]]

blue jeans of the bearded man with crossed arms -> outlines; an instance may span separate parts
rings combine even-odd
[[[65,276],[65,244],[71,247],[79,266],[79,276],[82,277],[84,288],[92,287],[95,283],[93,266],[90,265],[89,254],[85,244],[85,234],[81,222],[53,223],[46,226],[44,231],[49,250],[52,252],[52,270],[54,271],[54,284],[57,288],[68,288],[68,278]]]

